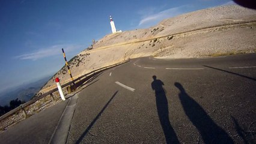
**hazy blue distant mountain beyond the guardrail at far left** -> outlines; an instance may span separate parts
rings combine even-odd
[[[9,105],[11,100],[19,98],[21,101],[29,101],[41,87],[50,79],[51,76],[44,77],[26,85],[21,85],[17,89],[10,89],[0,94],[0,106]]]

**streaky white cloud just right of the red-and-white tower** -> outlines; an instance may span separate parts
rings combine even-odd
[[[143,19],[139,21],[139,26],[154,25],[160,22],[160,20],[186,13],[189,11],[188,8],[188,5],[183,5],[180,7],[169,8],[168,10],[163,10],[158,13],[151,14],[150,16],[142,16]]]

